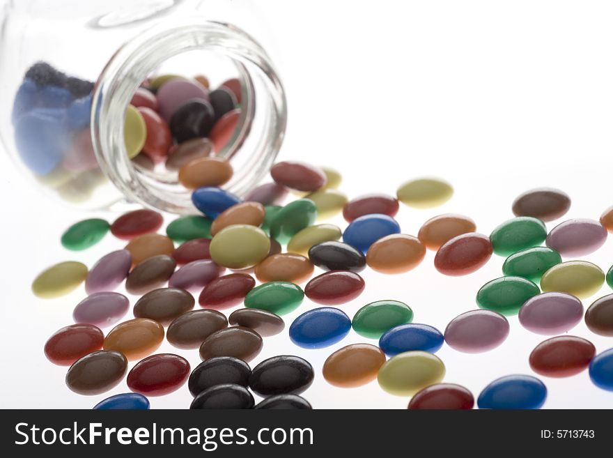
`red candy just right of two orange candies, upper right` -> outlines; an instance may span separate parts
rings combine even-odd
[[[468,275],[485,266],[492,257],[492,243],[487,236],[469,232],[451,238],[436,252],[434,266],[444,275]]]

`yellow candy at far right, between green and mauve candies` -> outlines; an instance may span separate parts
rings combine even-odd
[[[541,277],[541,289],[568,293],[585,299],[596,294],[605,282],[605,273],[587,261],[566,261],[553,266]]]

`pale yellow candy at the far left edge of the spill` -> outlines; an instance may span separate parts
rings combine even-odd
[[[74,291],[87,277],[87,266],[65,261],[43,270],[32,283],[32,292],[39,298],[52,299]]]

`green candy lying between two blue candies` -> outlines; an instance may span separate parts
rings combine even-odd
[[[413,321],[411,307],[398,300],[377,300],[356,312],[351,326],[368,339],[378,339],[385,331]]]

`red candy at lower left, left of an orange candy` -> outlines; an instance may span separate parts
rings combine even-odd
[[[91,324],[72,324],[65,326],[47,339],[45,356],[60,366],[70,366],[73,362],[93,351],[102,349],[104,334]]]

